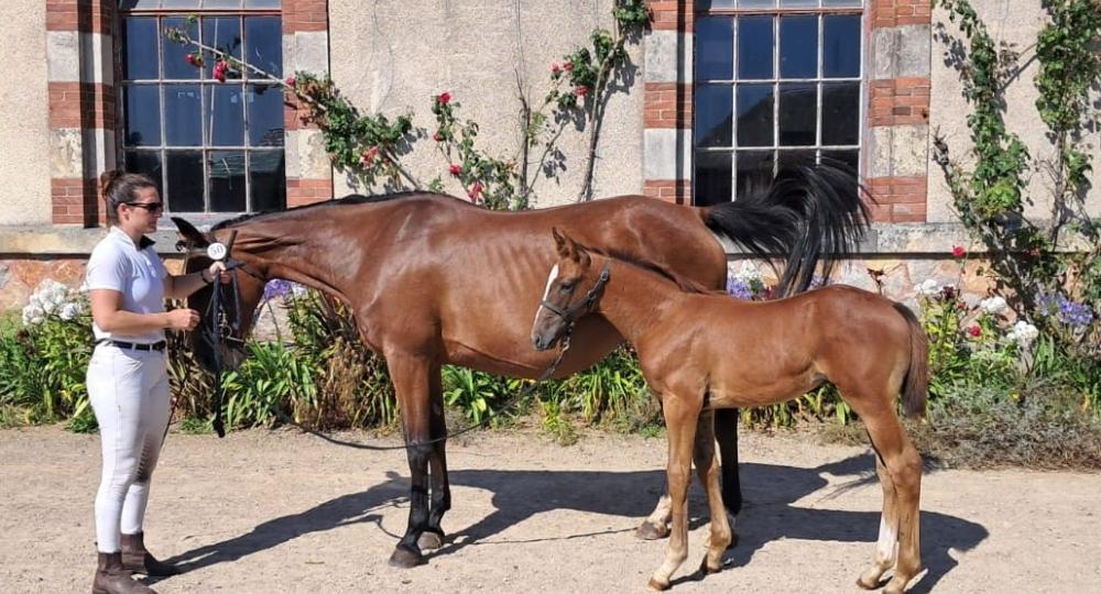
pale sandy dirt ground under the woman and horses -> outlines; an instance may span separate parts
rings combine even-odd
[[[386,559],[408,510],[404,452],[344,449],[292,431],[173,433],[146,543],[186,573],[154,587],[643,592],[665,542],[632,531],[662,487],[664,451],[662,440],[599,433],[568,448],[530,432],[449,443],[448,542],[425,565],[397,570]],[[673,592],[859,592],[879,526],[869,451],[749,435],[742,460],[740,543],[721,573],[696,580],[706,505],[695,488],[691,553]],[[0,591],[87,592],[98,437],[0,431]],[[928,571],[913,592],[1098,591],[1101,475],[929,471],[922,508]]]

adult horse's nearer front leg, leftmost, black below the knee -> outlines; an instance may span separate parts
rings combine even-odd
[[[417,540],[428,526],[428,459],[432,455],[429,403],[433,362],[402,352],[388,352],[386,366],[401,406],[410,463],[410,519],[390,564],[412,568],[423,560]]]

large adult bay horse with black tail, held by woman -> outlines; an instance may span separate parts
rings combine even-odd
[[[235,239],[242,262],[235,342],[218,346],[221,361],[243,359],[240,339],[251,330],[264,282],[284,278],[320,289],[347,304],[363,343],[385,358],[397,396],[412,475],[408,527],[390,562],[413,566],[422,548],[443,543],[440,520],[450,507],[440,367],[462,365],[513,377],[538,377],[555,359],[527,346],[534,315],[527,296],[541,290],[554,250],[543,238],[568,229],[648,265],[669,278],[721,288],[727,278],[724,237],[762,257],[786,257],[781,284],[805,288],[821,264],[849,253],[866,227],[866,206],[855,177],[830,167],[782,172],[768,188],[705,208],[644,197],[619,197],[558,208],[498,212],[449,196],[405,193],[352,196],[282,212],[252,215],[199,232],[176,222],[192,253]],[[192,257],[188,271],[209,264]],[[205,312],[206,288],[188,299]],[[209,330],[214,320],[200,321]],[[214,351],[193,333],[198,361],[210,369]],[[622,338],[599,316],[577,320],[573,348],[557,367],[564,377],[600,361]],[[731,414],[720,432],[727,507],[737,514],[737,429]],[[430,480],[430,488],[429,488]],[[430,494],[430,501],[429,501]],[[667,534],[662,505],[637,534]],[[423,537],[423,538],[422,538]]]

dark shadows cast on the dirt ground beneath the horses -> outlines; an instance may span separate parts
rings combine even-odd
[[[796,501],[815,494],[827,486],[821,476],[851,477],[839,487],[825,490],[809,505],[830,499],[847,490],[863,487],[879,490],[873,459],[859,455],[816,469],[798,469],[772,464],[741,465],[745,506],[739,515],[738,546],[727,552],[724,563],[739,566],[748,563],[766,542],[780,538],[874,542],[879,532],[880,513],[846,512],[806,507]],[[581,471],[500,471],[459,470],[450,473],[453,485],[469,486],[493,493],[494,510],[476,524],[448,535],[444,548],[429,557],[451,554],[462,548],[484,544],[506,528],[536,514],[554,509],[621,516],[641,520],[650,514],[664,479],[664,472],[581,472]],[[381,509],[407,503],[408,483],[391,474],[389,481],[362,493],[337,497],[301,514],[275,518],[258,525],[250,532],[199,547],[176,556],[168,561],[184,571],[236,561],[254,552],[276,547],[302,535],[330,530],[357,522],[379,524]],[[876,497],[877,499],[877,497]],[[828,504],[827,504],[828,505]],[[689,498],[693,526],[707,521],[704,494],[694,486]],[[632,522],[633,526],[633,522]],[[445,520],[446,527],[446,520]],[[989,532],[982,526],[935,512],[922,513],[922,558],[928,573],[911,592],[926,592],[957,565],[948,551],[971,550]],[[624,532],[622,538],[634,538],[631,528],[608,530]],[[541,538],[532,535],[525,542],[581,538],[590,534],[567,537]],[[396,538],[396,535],[395,535]],[[520,542],[512,537],[498,538],[492,543]],[[869,549],[869,561],[872,556]],[[853,568],[855,571],[857,568]],[[683,580],[693,579],[683,578]]]

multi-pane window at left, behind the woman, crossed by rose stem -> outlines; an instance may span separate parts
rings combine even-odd
[[[240,213],[286,204],[283,91],[231,73],[214,79],[214,59],[188,64],[193,38],[282,77],[279,0],[123,0],[120,2],[119,111],[127,170],[160,184],[175,213]],[[216,9],[216,10],[215,10]],[[198,15],[188,24],[187,15]]]

